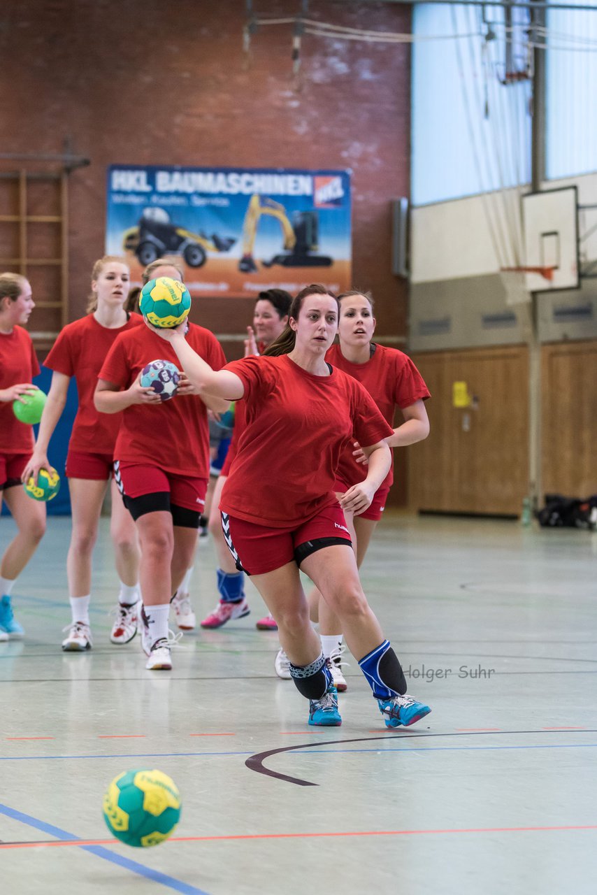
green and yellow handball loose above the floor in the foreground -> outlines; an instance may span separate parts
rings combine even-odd
[[[125,771],[110,783],[102,807],[116,839],[133,848],[149,848],[175,830],[181,799],[174,780],[162,771]]]

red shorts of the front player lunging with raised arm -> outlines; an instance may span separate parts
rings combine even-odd
[[[235,519],[226,513],[222,513],[222,528],[228,550],[247,575],[265,575],[286,566],[293,559],[300,565],[297,548],[306,541],[329,538],[352,543],[344,513],[337,505],[324,507],[317,516],[312,516],[298,528],[270,528],[269,525]],[[309,550],[307,555],[309,552],[314,551]]]

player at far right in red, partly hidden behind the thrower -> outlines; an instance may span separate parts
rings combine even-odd
[[[405,447],[427,438],[429,419],[424,402],[430,397],[420,372],[406,354],[396,348],[371,342],[375,331],[375,318],[371,295],[351,291],[338,295],[340,318],[338,343],[332,345],[326,359],[332,366],[344,370],[367,389],[384,419],[394,429],[386,439],[389,447]],[[396,408],[400,409],[404,422],[394,428]],[[358,458],[358,459],[357,459]],[[358,445],[350,445],[340,458],[337,469],[336,489],[342,493],[366,474],[364,457]],[[381,483],[371,501],[371,506],[358,516],[346,513],[346,524],[356,548],[356,564],[361,567],[369,547],[371,536],[380,521],[393,482],[393,470]],[[323,655],[329,666],[337,689],[344,691],[346,681],[342,674],[342,634],[339,619],[321,599],[315,589],[310,595],[311,618],[320,621],[320,637]],[[288,661],[282,650],[276,657],[277,674],[290,677]]]

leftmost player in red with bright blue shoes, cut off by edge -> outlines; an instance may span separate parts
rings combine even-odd
[[[13,616],[11,593],[46,531],[46,504],[31,500],[20,487],[33,447],[33,427],[13,413],[14,401],[37,391],[31,379],[38,375],[38,358],[22,328],[34,307],[25,277],[0,274],[0,506],[4,498],[18,528],[0,563],[0,641],[25,633]]]

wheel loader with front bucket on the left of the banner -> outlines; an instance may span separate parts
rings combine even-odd
[[[124,251],[132,251],[139,263],[147,267],[161,255],[182,255],[190,268],[202,267],[208,251],[228,251],[236,240],[212,234],[191,233],[173,224],[166,209],[143,209],[138,226],[129,227],[123,234]]]

